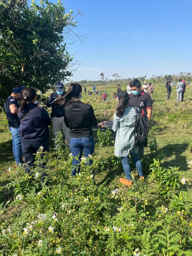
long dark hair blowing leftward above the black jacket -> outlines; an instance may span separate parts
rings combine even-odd
[[[71,104],[76,98],[79,97],[79,94],[82,92],[82,87],[80,84],[72,83],[69,84],[68,92],[63,96],[60,97],[61,105],[68,106]]]

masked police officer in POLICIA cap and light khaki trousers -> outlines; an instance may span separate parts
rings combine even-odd
[[[62,97],[66,94],[64,91],[63,83],[59,82],[56,84],[56,92],[53,92],[49,99],[47,100],[47,107],[52,107],[52,125],[53,125],[53,135],[56,137],[58,131],[63,131],[65,135],[65,140],[69,144],[70,143],[70,130],[64,123],[64,106],[60,106],[58,103],[54,103],[53,101],[58,97]]]

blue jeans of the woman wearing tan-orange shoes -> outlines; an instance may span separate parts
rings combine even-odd
[[[136,168],[137,168],[137,172],[139,174],[140,177],[143,177],[143,167],[139,158],[139,154],[132,154],[130,153],[131,158],[133,160],[133,163],[135,164]],[[129,156],[125,156],[125,157],[121,157],[121,161],[123,164],[123,169],[124,169],[124,173],[125,173],[125,177],[127,180],[132,180],[131,177],[131,167],[130,167],[130,162],[129,162]]]

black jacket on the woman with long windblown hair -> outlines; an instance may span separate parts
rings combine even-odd
[[[75,100],[64,109],[64,122],[70,128],[71,137],[92,136],[92,126],[97,125],[93,108],[89,104]]]

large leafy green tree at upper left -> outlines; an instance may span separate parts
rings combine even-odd
[[[30,5],[27,0],[0,1],[1,105],[12,87],[46,92],[71,76],[67,67],[73,56],[64,41],[76,27],[72,13],[65,12],[60,0],[41,0],[39,5],[35,0]]]

